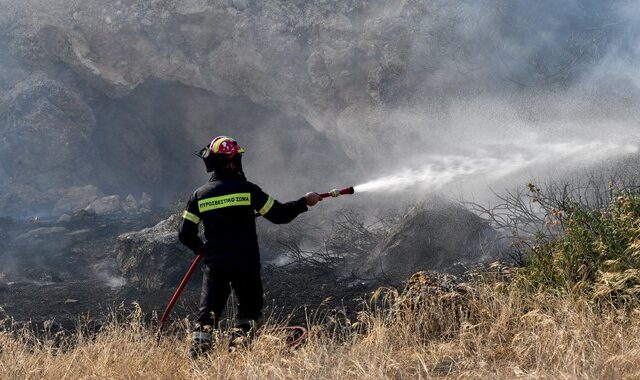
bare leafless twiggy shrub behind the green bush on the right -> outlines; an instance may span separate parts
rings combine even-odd
[[[633,156],[494,193],[489,206],[466,205],[502,232],[505,258],[524,265],[535,244],[564,235],[564,216],[570,209],[606,210],[616,194],[639,191],[639,168],[640,157]]]

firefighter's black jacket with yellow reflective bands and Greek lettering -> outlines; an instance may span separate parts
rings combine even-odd
[[[280,203],[247,181],[241,172],[218,171],[189,199],[178,236],[194,253],[204,253],[205,263],[210,266],[259,270],[256,216],[281,224],[305,211],[304,197]],[[205,242],[198,237],[200,223],[204,225]]]

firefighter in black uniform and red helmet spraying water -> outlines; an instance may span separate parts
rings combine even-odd
[[[218,136],[197,153],[213,175],[192,195],[183,212],[179,239],[196,255],[204,255],[200,309],[192,334],[192,354],[213,344],[214,331],[231,292],[238,300],[237,328],[255,331],[263,306],[260,251],[256,217],[272,223],[289,223],[308,206],[322,200],[307,193],[298,200],[280,203],[247,181],[242,172],[242,149],[226,136]],[[205,241],[198,237],[204,225]]]

